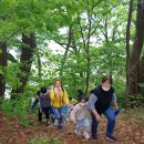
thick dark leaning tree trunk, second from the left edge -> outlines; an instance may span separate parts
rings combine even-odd
[[[31,70],[31,64],[32,64],[32,56],[33,56],[33,51],[37,45],[35,43],[35,35],[31,33],[30,35],[22,34],[22,51],[21,51],[21,66],[20,66],[20,73],[18,73],[18,78],[20,80],[20,85],[16,89],[12,90],[12,93],[23,93],[24,86],[27,84],[29,73]]]

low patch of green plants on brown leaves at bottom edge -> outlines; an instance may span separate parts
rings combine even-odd
[[[62,142],[58,141],[56,138],[32,138],[28,144],[63,144]]]

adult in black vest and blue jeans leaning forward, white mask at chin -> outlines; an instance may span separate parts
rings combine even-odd
[[[112,104],[115,110],[112,107]],[[105,136],[110,141],[116,141],[113,136],[113,131],[115,126],[115,112],[117,113],[120,110],[117,109],[111,76],[104,76],[102,79],[102,84],[91,91],[88,105],[92,115],[92,138],[96,140],[97,125],[101,122],[101,115],[104,114],[107,119]]]

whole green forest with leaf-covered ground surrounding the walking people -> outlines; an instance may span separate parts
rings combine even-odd
[[[109,144],[62,132],[30,107],[58,78],[68,96],[111,75],[116,144],[144,144],[144,0],[0,0],[0,144]]]

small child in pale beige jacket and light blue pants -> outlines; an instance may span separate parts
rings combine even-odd
[[[85,102],[84,95],[79,95],[79,103],[74,106],[71,112],[71,121],[76,124],[75,133],[78,135],[82,134],[82,128],[84,128],[83,136],[89,140],[90,138],[90,123],[88,119],[89,110]]]

